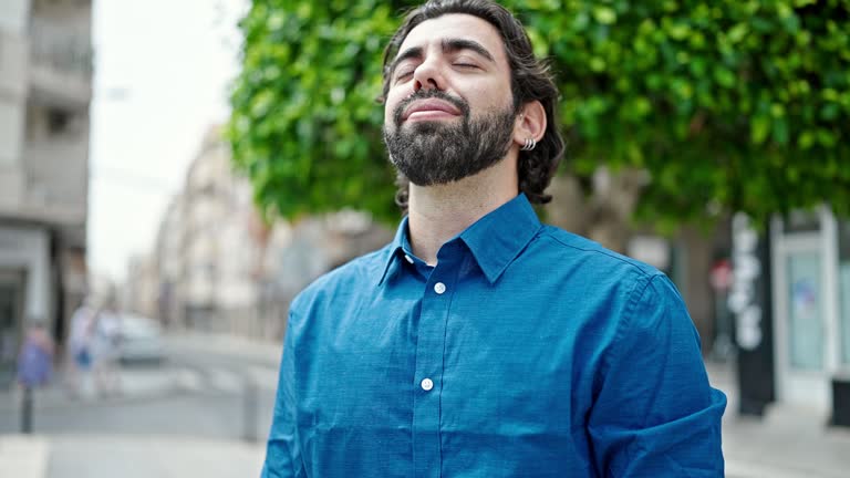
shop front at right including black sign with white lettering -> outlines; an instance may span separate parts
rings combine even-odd
[[[850,370],[850,221],[825,207],[756,233],[738,215],[733,250],[740,412],[777,401],[830,414]]]

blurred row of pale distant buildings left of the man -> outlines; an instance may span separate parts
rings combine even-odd
[[[170,329],[279,339],[301,289],[392,236],[353,210],[267,224],[212,127],[163,216],[152,259],[129,264],[125,303]]]

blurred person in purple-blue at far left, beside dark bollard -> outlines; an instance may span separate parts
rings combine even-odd
[[[32,433],[34,389],[48,385],[53,376],[53,340],[40,320],[31,320],[18,356],[18,384],[21,386],[21,433]]]

